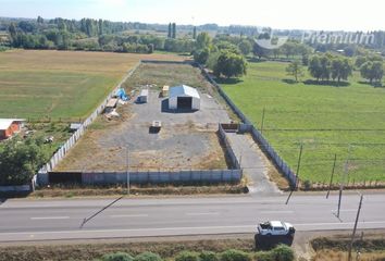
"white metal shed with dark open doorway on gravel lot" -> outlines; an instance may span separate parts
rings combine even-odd
[[[200,96],[198,90],[187,85],[171,87],[169,91],[169,109],[170,110],[199,110]]]

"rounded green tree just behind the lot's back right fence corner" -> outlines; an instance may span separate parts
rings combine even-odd
[[[240,54],[233,53],[228,50],[221,51],[214,65],[214,74],[216,77],[224,75],[225,77],[239,77],[247,72],[247,62]]]

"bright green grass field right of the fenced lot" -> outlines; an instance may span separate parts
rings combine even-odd
[[[247,76],[222,86],[258,128],[265,109],[263,134],[294,171],[303,145],[301,181],[327,183],[335,154],[334,183],[344,173],[350,183],[385,181],[385,88],[362,83],[358,72],[344,87],[293,84],[286,66],[249,63]]]

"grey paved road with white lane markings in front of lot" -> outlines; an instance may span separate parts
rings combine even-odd
[[[383,195],[368,195],[360,228],[385,228]],[[359,202],[345,196],[340,220],[337,197],[295,195],[257,199],[250,196],[178,199],[123,199],[89,221],[112,200],[8,200],[0,204],[0,241],[70,238],[176,236],[252,233],[265,220],[291,222],[298,231],[350,229]]]

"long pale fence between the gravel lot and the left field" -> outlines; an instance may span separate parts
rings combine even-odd
[[[77,140],[84,135],[87,127],[97,119],[97,116],[103,112],[107,102],[113,97],[121,85],[133,75],[133,73],[138,69],[140,62],[132,69],[128,74],[119,83],[119,85],[107,96],[107,98],[101,102],[101,104],[82,123],[82,126],[65,141],[65,144],[52,156],[50,161],[44,165],[37,176],[37,183],[42,185],[48,183],[47,174],[51,172],[57,164],[64,158],[69,150],[77,142]]]

